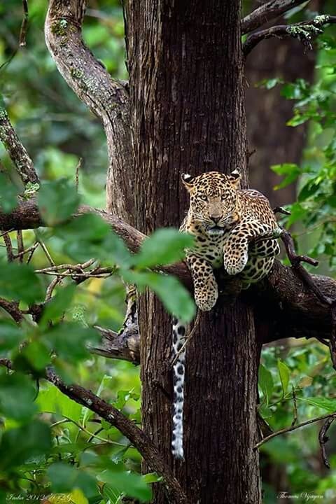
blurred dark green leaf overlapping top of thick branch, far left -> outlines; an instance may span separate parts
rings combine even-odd
[[[50,226],[66,221],[78,208],[80,197],[66,179],[44,182],[38,191],[38,208]]]

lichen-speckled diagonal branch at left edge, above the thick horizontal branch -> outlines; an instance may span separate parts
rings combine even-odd
[[[34,169],[34,164],[29,157],[25,147],[21,144],[18,135],[10,124],[8,113],[0,102],[0,141],[6,148],[10,160],[20,175],[23,183],[38,183],[38,176]]]

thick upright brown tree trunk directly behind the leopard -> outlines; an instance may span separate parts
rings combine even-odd
[[[135,223],[142,232],[181,223],[188,206],[181,172],[238,167],[246,180],[239,11],[239,0],[127,2]],[[251,309],[220,300],[188,344],[183,463],[170,452],[171,320],[148,292],[139,320],[144,430],[171,461],[190,504],[260,503]],[[163,486],[153,502],[167,503]]]

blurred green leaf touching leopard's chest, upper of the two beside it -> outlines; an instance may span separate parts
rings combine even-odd
[[[152,267],[177,262],[184,257],[184,249],[193,246],[191,235],[174,228],[159,229],[145,239],[135,257],[137,267]]]

